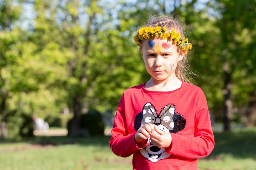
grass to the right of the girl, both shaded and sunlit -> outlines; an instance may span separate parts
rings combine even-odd
[[[198,161],[200,169],[256,170],[256,128],[215,132],[212,153]],[[210,168],[209,168],[210,167]]]

